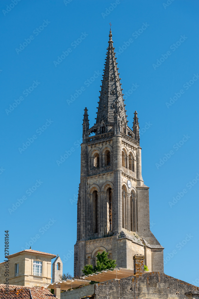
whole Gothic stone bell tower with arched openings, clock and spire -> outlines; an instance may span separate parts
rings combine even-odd
[[[104,250],[117,267],[134,269],[133,256],[139,254],[149,271],[163,272],[164,248],[150,231],[138,116],[135,111],[130,129],[111,30],[108,43],[97,118],[91,128],[84,109],[74,276],[82,275],[86,264],[94,266],[97,253]]]

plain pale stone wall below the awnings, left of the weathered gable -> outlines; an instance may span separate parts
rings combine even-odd
[[[61,293],[61,299],[79,299],[85,296],[90,296],[95,293],[95,284],[90,284],[88,286],[83,286],[80,289],[75,289],[72,291],[67,291]]]

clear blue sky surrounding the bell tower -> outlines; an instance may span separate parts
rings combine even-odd
[[[16,1],[0,3],[1,260],[9,230],[10,254],[33,243],[73,274],[82,119],[86,106],[95,122],[111,21],[165,273],[199,286],[198,1]]]

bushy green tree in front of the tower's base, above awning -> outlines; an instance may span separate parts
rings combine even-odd
[[[115,268],[117,266],[115,264],[116,260],[109,260],[108,252],[106,252],[105,250],[102,253],[98,252],[96,257],[97,257],[97,261],[96,261],[97,266],[95,266],[93,268],[92,265],[90,265],[90,264],[85,265],[84,269],[82,270],[84,275],[89,275],[89,274],[100,272],[103,270],[108,270],[111,268]]]

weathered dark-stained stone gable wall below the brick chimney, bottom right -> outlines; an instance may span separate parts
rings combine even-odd
[[[187,299],[184,294],[191,290],[197,291],[198,287],[164,273],[145,272],[120,280],[96,283],[95,299]]]

